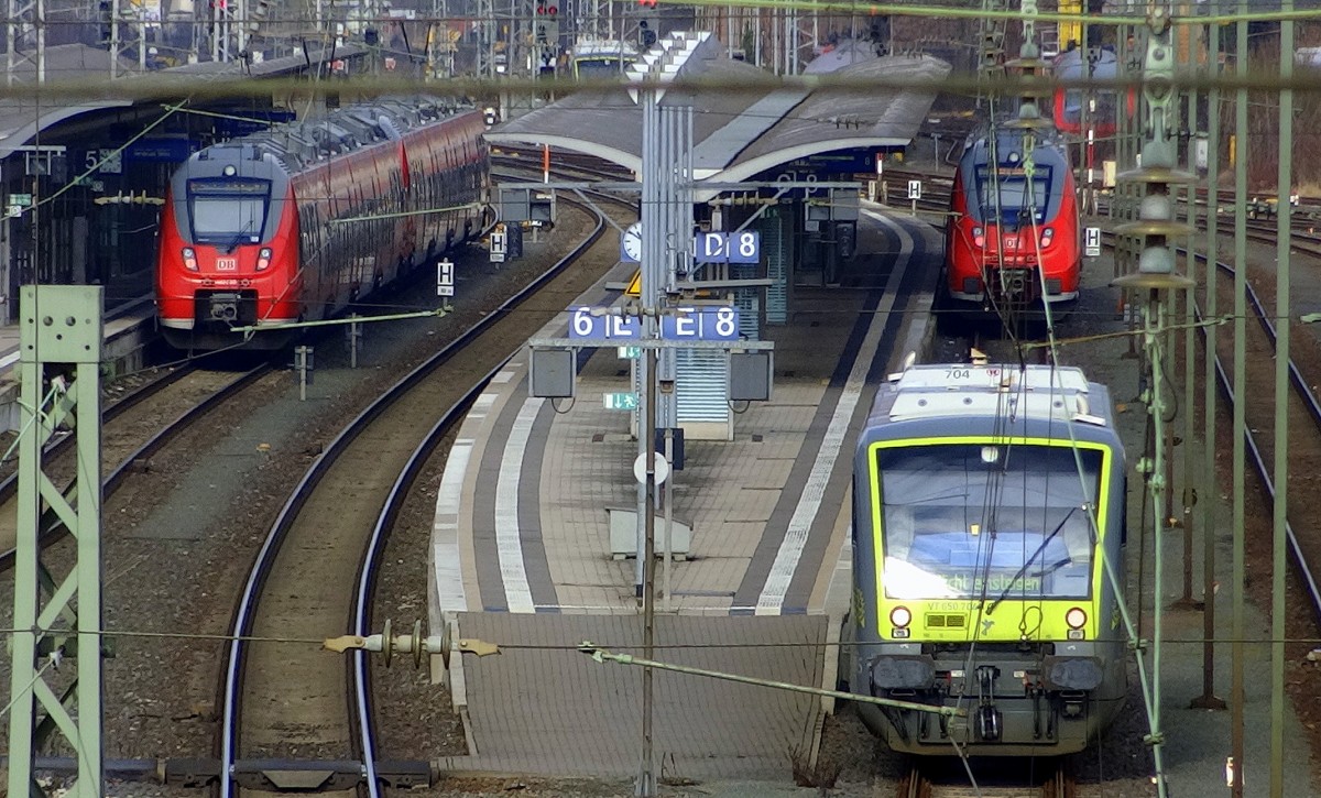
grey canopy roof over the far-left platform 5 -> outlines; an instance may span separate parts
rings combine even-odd
[[[289,55],[285,58],[272,58],[263,63],[244,65],[242,62],[202,62],[169,69],[160,69],[148,73],[149,78],[184,78],[186,81],[242,81],[247,78],[263,78],[288,74],[304,70],[309,63],[316,65],[332,58],[349,58],[363,53],[362,48],[339,46],[334,50],[320,48],[312,49],[308,54]],[[127,73],[137,67],[136,63],[120,59],[120,70],[125,73],[123,79],[132,79]],[[45,49],[45,73],[50,83],[82,82],[89,87],[89,94],[95,94],[106,83],[102,78],[110,75],[110,52],[87,45],[53,45]],[[30,86],[36,79],[36,63],[26,55],[15,65],[15,79],[18,83]],[[181,92],[184,89],[181,89]],[[77,116],[110,108],[128,108],[135,103],[129,99],[89,99],[86,102],[59,99],[45,100],[28,96],[0,96],[0,159],[9,156],[20,148],[29,145],[38,133],[52,127],[74,119]],[[153,112],[160,112],[160,102],[144,103]]]

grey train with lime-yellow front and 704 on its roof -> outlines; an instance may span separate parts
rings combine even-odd
[[[919,366],[859,440],[843,672],[890,748],[1055,756],[1127,696],[1124,453],[1077,369]],[[914,706],[952,708],[956,716]]]

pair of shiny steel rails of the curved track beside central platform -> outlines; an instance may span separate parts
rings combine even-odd
[[[596,229],[588,235],[583,242],[580,242],[572,251],[565,256],[559,259],[550,270],[543,272],[535,280],[523,287],[517,295],[506,300],[497,310],[489,313],[481,321],[474,324],[472,328],[461,333],[454,341],[436,351],[425,362],[419,365],[399,382],[384,391],[378,399],[375,399],[367,408],[365,408],[357,417],[354,417],[337,436],[326,445],[325,451],[317,457],[316,462],[308,469],[308,472],[299,481],[297,486],[291,493],[289,498],[285,501],[284,506],[280,509],[275,522],[271,525],[266,539],[262,543],[260,551],[258,552],[256,560],[252,569],[248,573],[247,581],[244,584],[242,596],[239,598],[238,609],[235,612],[234,621],[231,624],[231,641],[229,646],[229,657],[225,667],[225,684],[223,684],[223,716],[222,716],[222,740],[221,740],[221,783],[219,795],[222,798],[230,798],[235,791],[235,764],[238,761],[238,746],[239,740],[239,720],[240,709],[239,706],[239,691],[243,682],[243,667],[246,658],[244,637],[251,633],[254,622],[256,620],[256,608],[260,601],[260,592],[266,584],[271,571],[273,568],[276,554],[279,552],[288,531],[293,526],[295,518],[301,511],[304,503],[310,495],[312,490],[316,488],[317,482],[325,476],[332,464],[339,457],[349,444],[361,433],[371,421],[374,421],[387,407],[398,402],[403,395],[406,395],[412,387],[435,371],[440,365],[450,359],[450,357],[458,351],[461,347],[466,346],[469,342],[476,340],[478,336],[485,333],[487,328],[495,324],[498,320],[503,318],[519,304],[526,301],[534,293],[536,293],[547,281],[563,272],[571,263],[573,263],[583,252],[585,252],[592,244],[594,244],[605,233],[606,222],[602,215],[597,217]],[[518,345],[522,346],[522,342]],[[517,347],[515,350],[517,351]],[[513,357],[513,353],[507,357]],[[507,357],[502,362],[507,362]],[[476,396],[481,391],[486,381],[494,375],[494,370],[474,384],[465,395],[465,402],[469,398]],[[452,406],[444,416],[437,421],[436,427],[425,435],[425,439],[419,444],[417,449],[412,453],[408,460],[408,465],[404,468],[404,473],[400,473],[395,485],[391,489],[391,501],[386,503],[386,509],[382,511],[382,517],[378,518],[375,528],[370,536],[370,544],[363,555],[363,560],[359,564],[359,579],[355,587],[355,608],[354,608],[354,622],[365,624],[367,614],[370,612],[369,604],[371,597],[373,587],[373,571],[374,564],[379,558],[379,552],[387,538],[387,530],[390,522],[398,514],[398,502],[402,502],[404,494],[407,494],[407,485],[411,485],[412,480],[416,477],[416,470],[420,464],[425,460],[425,453],[435,447],[435,443],[440,439],[440,432],[448,425],[453,424],[458,417],[460,410],[465,406],[464,402],[458,402]],[[412,473],[408,473],[408,472]],[[365,626],[359,626],[365,629]],[[366,682],[366,663],[362,662],[361,654],[354,655],[349,659],[353,666],[350,667],[350,715],[354,719],[355,729],[354,737],[357,739],[358,750],[354,756],[359,757],[359,766],[362,768],[362,778],[366,782],[366,793],[375,798],[380,794],[380,782],[376,773],[375,761],[375,728],[371,717],[371,704],[369,698],[367,682]]]

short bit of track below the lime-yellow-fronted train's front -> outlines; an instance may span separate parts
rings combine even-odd
[[[915,762],[898,781],[897,798],[1075,798],[1077,782],[1069,769],[1059,762],[1041,765],[1042,760],[1026,762],[996,762],[989,772],[976,776],[976,783],[958,764],[942,764],[934,773],[930,762]],[[1037,773],[1037,769],[1044,772]],[[1028,769],[1028,773],[1022,773]],[[983,769],[987,770],[987,769]]]

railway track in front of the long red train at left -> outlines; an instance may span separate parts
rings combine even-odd
[[[102,412],[102,473],[104,497],[110,497],[136,469],[145,468],[157,451],[221,403],[239,394],[271,370],[263,362],[246,371],[211,371],[182,366],[143,386]],[[151,402],[148,402],[151,399]],[[162,417],[161,408],[185,408]],[[66,435],[46,447],[42,470],[63,490],[74,478],[74,436]],[[0,481],[0,565],[13,564],[17,546],[17,472]],[[63,530],[54,514],[42,519],[42,535],[50,540]]]

